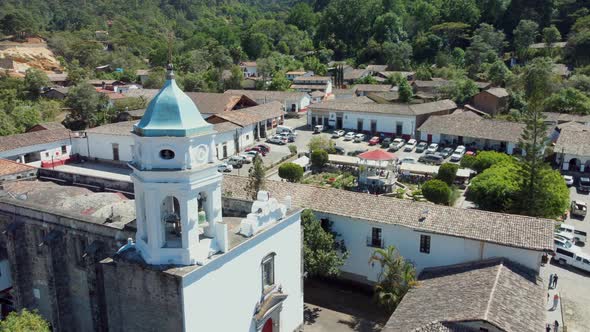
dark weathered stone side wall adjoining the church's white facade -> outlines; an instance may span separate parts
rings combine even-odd
[[[179,277],[118,257],[101,269],[108,331],[183,331]]]

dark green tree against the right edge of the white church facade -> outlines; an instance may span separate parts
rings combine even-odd
[[[342,241],[336,241],[337,234],[331,227],[324,229],[313,211],[301,212],[303,227],[303,269],[307,277],[338,276],[340,267],[347,257]]]

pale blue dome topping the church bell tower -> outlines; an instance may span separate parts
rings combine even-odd
[[[195,103],[176,85],[170,70],[164,87],[152,99],[141,121],[133,126],[133,132],[149,137],[186,137],[210,132],[212,128]]]

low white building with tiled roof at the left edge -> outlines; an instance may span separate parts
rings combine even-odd
[[[0,137],[0,158],[37,167],[52,167],[69,161],[72,139],[68,129],[50,129]]]

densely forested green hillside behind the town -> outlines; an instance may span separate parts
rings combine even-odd
[[[590,0],[4,0],[0,37],[44,37],[73,84],[87,78],[134,81],[137,69],[149,68],[152,74],[145,87],[159,87],[171,53],[185,90],[238,87],[242,78],[235,65],[244,60],[256,60],[259,73],[275,78],[260,88],[281,90],[288,88],[283,75],[287,70],[303,67],[324,74],[329,61],[344,60],[360,68],[376,63],[387,64],[389,70],[414,70],[419,79],[465,80],[455,85],[458,101],[473,90],[466,79],[492,81],[511,89],[511,106],[517,109],[524,103],[519,98],[522,84],[516,80],[520,68],[543,56],[575,68],[577,74],[553,89],[557,110],[586,113],[589,4]],[[566,41],[566,47],[553,47],[559,41]],[[547,47],[530,48],[533,43]],[[120,70],[95,70],[106,64]],[[224,70],[231,73],[229,78],[222,79]],[[4,78],[0,90],[0,116],[23,103],[28,109],[39,107],[37,94],[22,81]],[[34,118],[39,117],[50,118],[37,112]],[[0,132],[27,126],[13,122],[8,129],[0,125]]]

